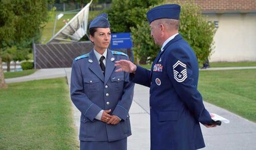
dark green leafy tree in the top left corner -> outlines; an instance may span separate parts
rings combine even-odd
[[[40,40],[42,24],[48,19],[46,0],[4,0],[0,3],[0,56],[14,58],[16,50],[30,48],[32,39]],[[9,54],[8,54],[9,52]],[[9,56],[8,56],[8,55]],[[23,53],[19,53],[20,55]],[[0,64],[2,68],[2,63]],[[1,71],[1,70],[0,70]],[[0,72],[0,74],[2,74]],[[4,80],[1,76],[0,81]],[[2,84],[2,83],[1,83]]]

